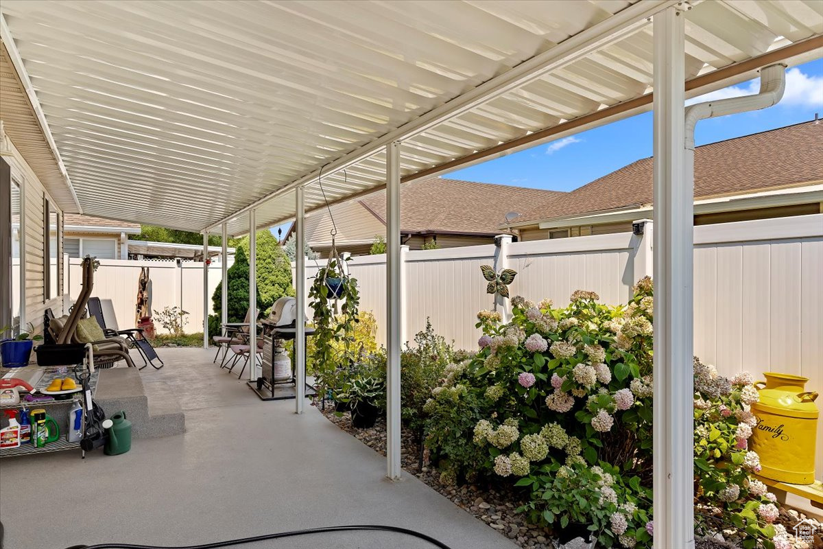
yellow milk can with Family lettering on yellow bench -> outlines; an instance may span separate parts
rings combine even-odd
[[[751,405],[757,416],[751,449],[760,456],[763,468],[758,474],[789,484],[811,484],[815,482],[817,393],[803,391],[808,378],[763,375],[766,380],[755,384],[760,402]]]

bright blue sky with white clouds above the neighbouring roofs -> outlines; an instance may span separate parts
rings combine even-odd
[[[714,91],[689,103],[756,93],[759,81]],[[710,97],[707,97],[710,96]],[[789,69],[783,100],[771,109],[697,124],[698,145],[823,118],[823,59]],[[515,152],[444,177],[520,187],[570,191],[641,158],[652,156],[652,113]]]

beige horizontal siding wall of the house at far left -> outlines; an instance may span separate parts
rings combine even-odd
[[[12,144],[12,157],[7,159],[12,166],[12,179],[21,184],[24,198],[24,235],[26,239],[26,310],[24,322],[35,325],[35,330],[42,333],[43,314],[45,309],[52,309],[54,314],[63,314],[63,212],[52,201],[52,205],[59,213],[58,226],[58,295],[48,301],[44,300],[44,219],[43,199],[51,198],[40,183],[31,166]]]

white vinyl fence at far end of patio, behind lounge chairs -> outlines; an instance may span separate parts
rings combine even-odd
[[[72,300],[81,291],[81,259],[68,261],[67,293]],[[106,322],[116,320],[117,326],[109,328],[133,328],[136,323],[137,279],[140,269],[149,268],[149,309],[154,311],[177,306],[188,312],[186,333],[202,332],[203,322],[203,264],[200,262],[130,261],[125,259],[100,259],[95,272],[93,296],[100,297]],[[221,265],[212,262],[208,272],[209,309],[212,294],[221,279]],[[211,313],[211,310],[209,311]],[[114,319],[114,320],[113,320]],[[157,333],[165,333],[155,322]]]

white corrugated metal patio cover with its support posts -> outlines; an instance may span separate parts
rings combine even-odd
[[[305,213],[386,186],[393,479],[399,185],[654,106],[654,537],[693,547],[684,100],[820,57],[821,2],[5,0],[2,17],[3,55],[31,109],[4,101],[0,118],[35,170],[63,173],[67,211],[204,242],[250,232],[252,246],[256,229],[295,219],[302,249]],[[301,314],[304,269],[299,255]],[[300,359],[297,370],[302,387]]]

